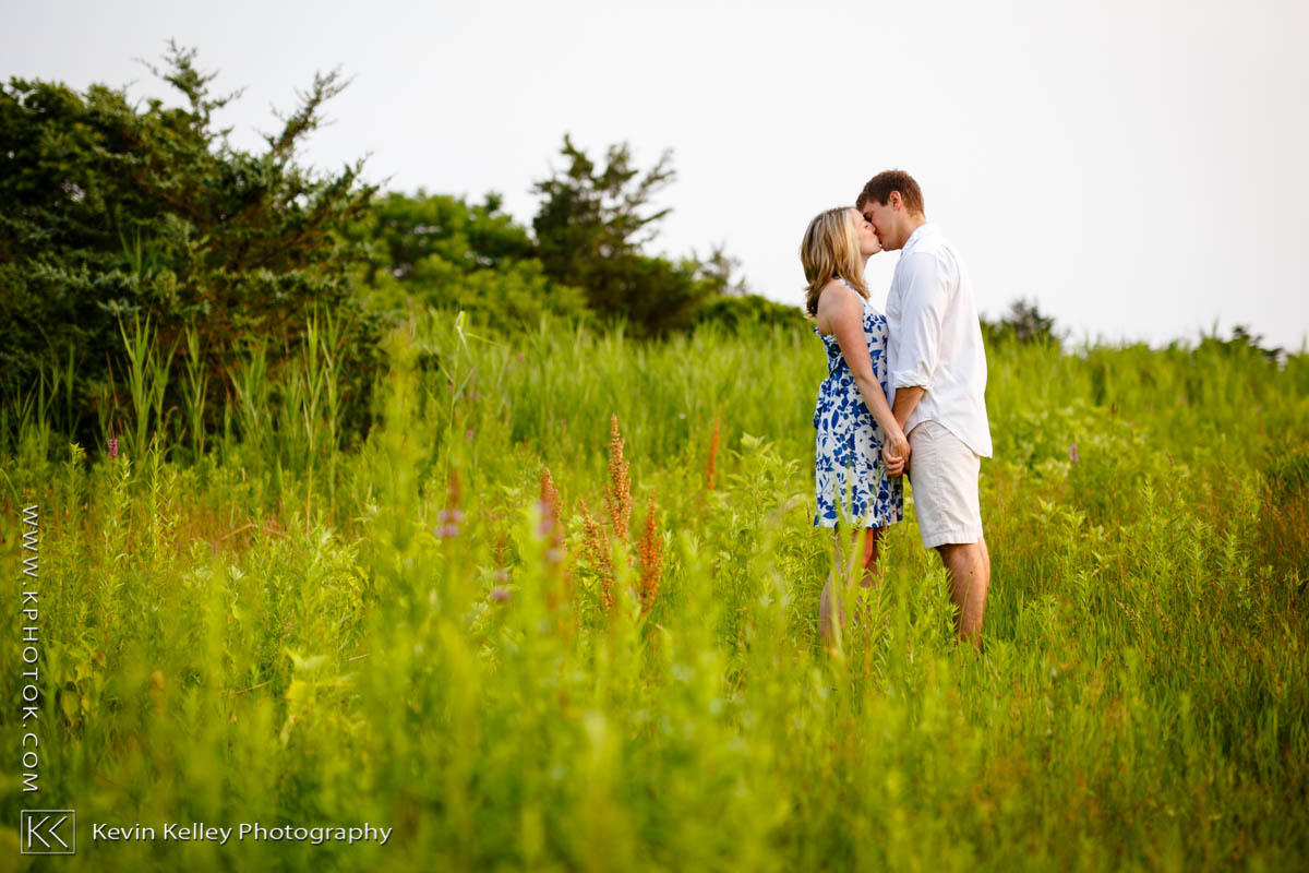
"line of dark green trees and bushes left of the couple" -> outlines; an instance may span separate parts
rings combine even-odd
[[[216,73],[195,54],[170,43],[151,67],[181,106],[134,105],[105,85],[0,85],[0,398],[21,406],[58,383],[75,437],[98,441],[105,407],[123,402],[124,325],[143,321],[165,351],[202,338],[190,365],[223,408],[243,355],[259,347],[275,368],[312,313],[331,313],[344,418],[364,429],[381,338],[408,301],[488,330],[552,315],[636,338],[798,317],[749,294],[721,249],[647,251],[668,215],[652,199],[675,178],[666,152],[641,170],[624,143],[597,160],[565,135],[528,228],[495,192],[382,192],[363,160],[305,166],[302,145],[344,88],[336,72],[314,77],[262,148],[234,148],[215,114],[240,92],[212,93]]]

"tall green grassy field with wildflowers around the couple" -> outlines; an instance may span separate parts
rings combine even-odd
[[[24,808],[77,810],[85,870],[1309,866],[1309,356],[991,348],[984,650],[910,512],[827,656],[813,335],[423,315],[348,446],[323,334],[204,444],[145,339],[117,457],[58,390],[0,411],[0,869]]]

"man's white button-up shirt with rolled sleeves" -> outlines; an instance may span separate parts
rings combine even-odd
[[[924,394],[905,423],[937,421],[983,458],[991,457],[986,418],[986,351],[969,271],[935,224],[918,228],[901,249],[886,294],[890,398],[895,389]]]

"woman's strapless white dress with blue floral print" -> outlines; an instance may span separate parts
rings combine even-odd
[[[847,288],[850,283],[842,280]],[[814,327],[818,334],[818,327]],[[817,428],[818,510],[814,526],[835,527],[838,516],[856,527],[885,527],[905,517],[903,480],[886,475],[882,461],[885,436],[859,394],[855,377],[833,335],[818,334],[827,347],[827,378],[818,386]],[[886,317],[864,301],[864,339],[873,376],[888,389]],[[846,490],[850,490],[850,503]]]

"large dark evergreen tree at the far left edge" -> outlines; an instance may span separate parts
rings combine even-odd
[[[340,232],[374,188],[360,181],[363,161],[323,175],[296,162],[344,86],[339,73],[315,76],[267,148],[249,153],[213,127],[238,93],[211,96],[215,73],[195,67],[194,50],[170,43],[166,60],[154,72],[182,107],[139,109],[105,85],[0,86],[0,397],[26,395],[71,361],[77,403],[63,424],[89,444],[92,404],[114,402],[111,369],[122,391],[119,318],[136,314],[152,318],[165,351],[200,326],[209,408],[221,412],[238,344],[275,339],[275,365],[317,304],[355,326],[338,352],[356,377],[347,424],[363,427],[378,325],[353,304],[348,271],[361,255]]]

